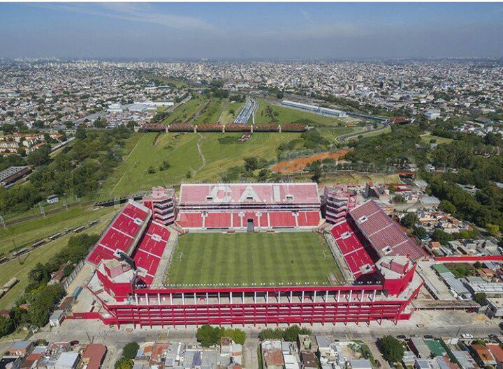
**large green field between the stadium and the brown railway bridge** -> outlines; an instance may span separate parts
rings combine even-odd
[[[105,181],[101,198],[150,190],[152,186],[174,186],[182,181],[219,181],[221,172],[243,165],[247,156],[275,158],[277,146],[293,140],[298,133],[255,133],[244,143],[237,141],[241,133],[163,133],[153,144],[156,135],[138,133],[131,137],[134,145],[126,145],[124,163]],[[219,138],[226,136],[235,137],[235,143],[221,144]],[[198,142],[205,165],[198,153]],[[159,167],[164,160],[170,167],[161,171]],[[155,173],[148,173],[150,167]],[[189,179],[187,173],[191,174]]]

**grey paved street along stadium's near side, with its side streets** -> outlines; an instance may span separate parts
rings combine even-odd
[[[488,336],[489,334],[500,334],[501,331],[497,325],[499,320],[490,321],[481,315],[467,313],[462,311],[417,311],[409,321],[399,322],[398,325],[393,322],[383,322],[379,325],[377,322],[370,324],[306,324],[313,334],[332,334],[339,340],[364,340],[369,344],[372,354],[379,359],[379,352],[374,343],[377,338],[385,335],[396,336],[404,334],[411,336],[417,334],[424,336],[460,336],[462,333],[470,333],[475,337]],[[418,324],[424,327],[418,328]],[[271,325],[272,326],[272,325]],[[279,326],[285,327],[284,324]],[[258,359],[256,358],[256,347],[258,345],[258,333],[264,326],[239,326],[247,333],[245,342],[245,361],[247,369],[257,369]],[[274,326],[275,327],[275,326]],[[44,338],[47,340],[79,340],[80,343],[97,342],[103,343],[109,349],[109,363],[114,363],[118,359],[120,350],[126,343],[131,341],[147,342],[162,338],[163,340],[179,340],[182,342],[196,342],[196,327],[165,327],[161,329],[132,329],[132,326],[109,327],[99,321],[85,320],[67,320],[61,327],[52,330],[45,329],[34,335],[34,338]],[[0,349],[3,349],[0,345]],[[110,368],[111,366],[106,366]]]

